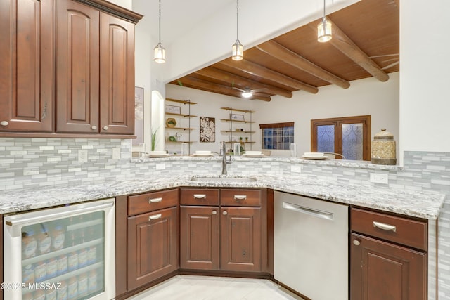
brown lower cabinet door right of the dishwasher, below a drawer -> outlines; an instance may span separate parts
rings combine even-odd
[[[427,255],[352,233],[351,300],[427,299]]]

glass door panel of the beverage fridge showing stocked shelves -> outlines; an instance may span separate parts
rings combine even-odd
[[[89,299],[105,290],[105,211],[22,227],[22,299]]]

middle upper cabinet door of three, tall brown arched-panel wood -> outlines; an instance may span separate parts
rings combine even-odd
[[[98,133],[99,12],[57,2],[56,131]]]

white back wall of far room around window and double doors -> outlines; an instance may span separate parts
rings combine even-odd
[[[268,103],[259,101],[255,110],[265,123],[295,122],[299,155],[311,150],[311,119],[371,115],[372,136],[385,128],[399,141],[399,73],[390,74],[386,82],[371,77],[350,84],[349,89],[323,86],[316,94],[297,91],[290,99],[272,97]],[[288,151],[272,153],[289,155]]]

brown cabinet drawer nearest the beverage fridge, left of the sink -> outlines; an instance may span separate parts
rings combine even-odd
[[[178,205],[178,190],[162,190],[128,197],[128,215],[143,214]]]

